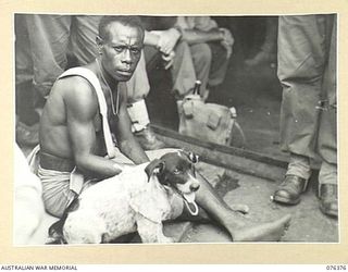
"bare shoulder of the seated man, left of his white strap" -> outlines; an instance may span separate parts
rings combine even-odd
[[[89,82],[80,76],[69,76],[57,83],[54,88],[62,94],[67,112],[91,118],[98,111],[98,98]]]

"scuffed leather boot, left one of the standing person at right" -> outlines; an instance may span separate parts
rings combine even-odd
[[[297,175],[286,175],[273,195],[273,200],[285,205],[297,205],[306,190],[307,181]]]

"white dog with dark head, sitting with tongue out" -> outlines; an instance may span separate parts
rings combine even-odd
[[[136,231],[142,243],[173,243],[164,236],[162,222],[177,218],[183,202],[188,208],[194,205],[195,210],[189,210],[198,213],[197,162],[196,154],[179,150],[126,166],[119,175],[84,190],[51,225],[47,244],[110,243]]]

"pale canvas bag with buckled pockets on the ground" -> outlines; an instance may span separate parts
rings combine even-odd
[[[188,95],[177,101],[179,133],[182,135],[231,145],[232,128],[236,123],[235,108],[216,103],[206,103],[199,95]]]

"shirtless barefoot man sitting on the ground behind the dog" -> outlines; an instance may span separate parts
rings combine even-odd
[[[84,67],[96,74],[102,86],[111,132],[116,136],[117,147],[123,154],[136,164],[147,162],[147,153],[130,132],[126,92],[120,88],[123,82],[132,77],[140,59],[144,29],[135,16],[105,16],[99,25],[97,45],[99,57]],[[79,173],[77,176],[83,176],[83,187],[86,187],[89,182],[117,175],[123,169],[123,164],[104,157],[105,134],[101,128],[97,100],[88,81],[73,75],[55,82],[45,106],[40,122],[38,175],[42,182],[45,207],[55,217],[61,217],[76,196],[73,191],[76,172]],[[290,220],[289,215],[245,227],[247,223],[240,215],[216,196],[206,180],[201,176],[200,180],[201,187],[196,198],[200,214],[207,211],[226,227],[234,240],[281,238]],[[77,189],[76,193],[79,191]],[[184,215],[188,215],[185,210]]]

